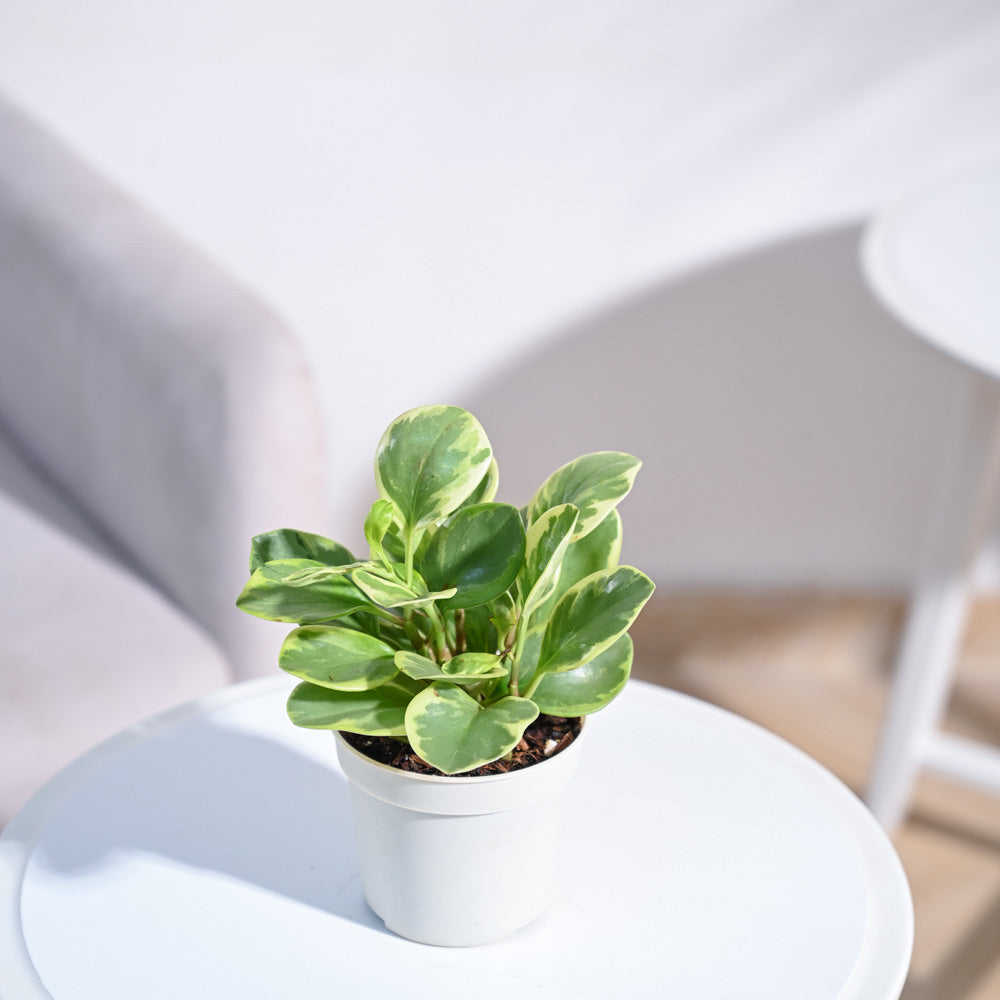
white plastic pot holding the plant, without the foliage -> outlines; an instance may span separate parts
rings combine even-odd
[[[563,792],[586,731],[548,760],[483,778],[401,771],[335,733],[365,899],[386,927],[424,944],[465,946],[509,937],[541,916]]]

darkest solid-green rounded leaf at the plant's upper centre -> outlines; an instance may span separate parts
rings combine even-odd
[[[442,610],[472,608],[499,597],[524,560],[524,527],[505,503],[465,507],[434,532],[420,563],[432,590],[457,588]]]

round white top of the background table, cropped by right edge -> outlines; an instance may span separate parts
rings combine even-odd
[[[1000,379],[1000,162],[956,173],[878,214],[862,260],[898,319]]]

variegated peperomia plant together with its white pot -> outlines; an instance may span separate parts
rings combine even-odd
[[[237,605],[297,625],[288,715],[336,731],[365,896],[391,930],[478,944],[547,904],[581,717],[625,686],[653,592],[618,564],[640,464],[584,455],[518,509],[494,501],[475,417],[425,406],[379,442],[367,559],[301,531],[253,539]]]

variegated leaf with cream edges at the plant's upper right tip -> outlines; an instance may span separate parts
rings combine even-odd
[[[557,469],[542,483],[525,508],[530,526],[559,504],[580,509],[574,537],[583,538],[596,528],[632,489],[642,462],[620,451],[598,451],[582,455]]]

